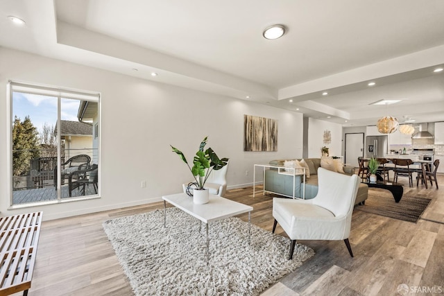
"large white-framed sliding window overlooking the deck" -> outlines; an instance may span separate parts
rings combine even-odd
[[[11,204],[99,195],[94,92],[10,82]]]

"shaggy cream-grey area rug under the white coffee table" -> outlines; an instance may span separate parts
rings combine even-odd
[[[228,218],[205,225],[176,208],[105,221],[103,228],[135,295],[258,295],[314,255],[289,238]]]

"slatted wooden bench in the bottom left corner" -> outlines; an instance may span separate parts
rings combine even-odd
[[[43,212],[0,218],[0,296],[28,295]]]

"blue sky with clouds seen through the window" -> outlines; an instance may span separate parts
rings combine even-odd
[[[60,114],[62,120],[78,121],[77,112],[79,100],[62,98]],[[44,123],[56,126],[57,98],[54,96],[40,96],[36,94],[12,93],[12,121],[15,116],[24,121],[29,116],[33,125],[42,131]]]

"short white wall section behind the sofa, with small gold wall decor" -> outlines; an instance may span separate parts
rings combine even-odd
[[[332,143],[324,144],[324,131],[330,130]],[[308,157],[321,157],[321,148],[327,146],[330,156],[342,155],[342,125],[319,119],[308,120]]]

